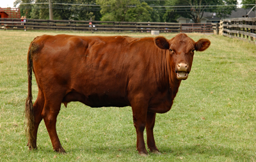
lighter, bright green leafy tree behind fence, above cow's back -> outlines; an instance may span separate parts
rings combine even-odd
[[[96,0],[100,4],[101,20],[103,21],[151,21],[150,11],[153,11],[147,3],[139,0]]]

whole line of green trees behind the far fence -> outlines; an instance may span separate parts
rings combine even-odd
[[[236,0],[52,0],[56,20],[104,20],[127,22],[200,22],[205,12],[225,18],[236,10]],[[21,15],[49,19],[49,0],[16,0]]]

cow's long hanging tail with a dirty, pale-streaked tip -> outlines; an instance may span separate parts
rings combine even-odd
[[[35,131],[35,117],[34,117],[34,110],[33,110],[33,103],[32,103],[32,67],[33,67],[33,62],[32,62],[32,56],[31,56],[31,46],[33,46],[33,43],[31,42],[29,46],[29,51],[28,51],[28,97],[26,99],[26,107],[25,107],[25,131],[26,131],[26,136],[28,138],[28,147],[29,149],[35,149],[36,148],[36,142],[35,142],[35,136],[34,131]]]

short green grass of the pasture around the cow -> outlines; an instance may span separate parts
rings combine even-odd
[[[28,151],[24,105],[29,43],[42,34],[60,33],[92,35],[0,31],[0,161],[256,161],[256,46],[204,34],[188,34],[195,41],[211,40],[211,47],[195,52],[172,109],[157,114],[154,135],[161,156],[139,156],[131,107],[90,108],[78,102],[62,105],[58,115],[57,131],[67,154],[52,151],[44,121],[38,149]],[[37,91],[33,75],[33,101]]]

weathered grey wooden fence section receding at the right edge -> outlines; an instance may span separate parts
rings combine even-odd
[[[256,45],[256,18],[224,19],[220,24],[212,24],[212,26],[215,34],[250,41]]]

